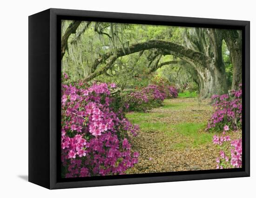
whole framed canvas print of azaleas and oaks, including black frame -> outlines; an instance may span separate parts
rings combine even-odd
[[[249,21],[29,16],[29,181],[249,176]]]

